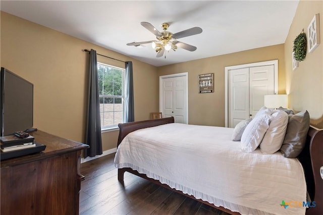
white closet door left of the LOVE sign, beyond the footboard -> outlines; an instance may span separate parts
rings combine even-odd
[[[159,95],[163,117],[174,116],[175,122],[187,124],[187,77],[162,78]]]

